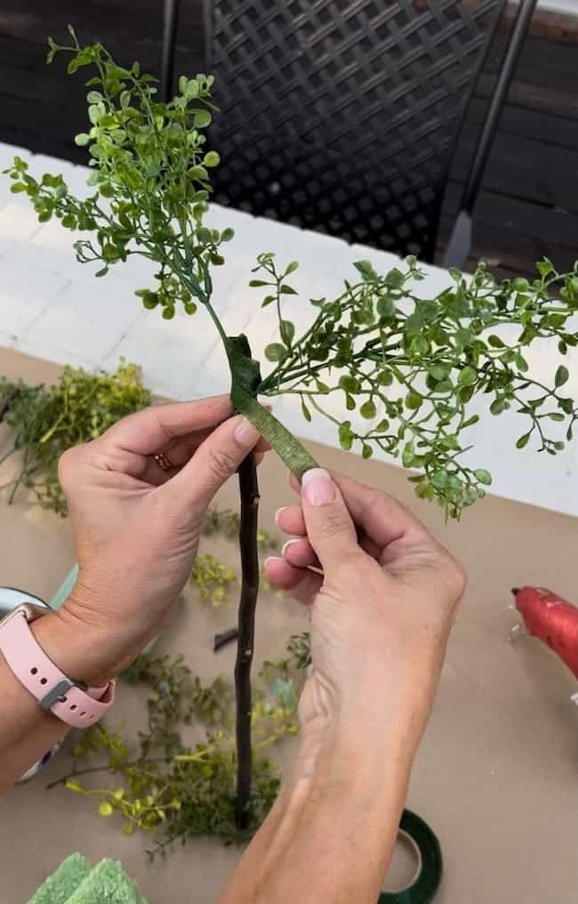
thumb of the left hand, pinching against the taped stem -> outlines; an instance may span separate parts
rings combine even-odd
[[[164,486],[193,513],[204,512],[220,487],[233,476],[260,434],[246,418],[228,418],[200,444],[195,454]],[[195,511],[196,510],[196,511]]]

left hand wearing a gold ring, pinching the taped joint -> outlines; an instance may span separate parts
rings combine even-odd
[[[251,449],[262,457],[258,440],[219,396],[140,411],[65,453],[60,478],[79,579],[58,625],[47,618],[36,628],[50,630],[48,645],[64,671],[63,632],[75,647],[87,638],[81,666],[69,667],[98,684],[158,634],[191,573],[207,506]],[[170,463],[167,472],[157,452]]]

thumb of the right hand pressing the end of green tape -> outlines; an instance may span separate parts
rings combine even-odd
[[[358,537],[339,487],[321,467],[305,471],[301,482],[307,537],[323,570],[358,551]]]

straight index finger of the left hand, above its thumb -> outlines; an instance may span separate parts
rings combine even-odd
[[[152,405],[119,420],[98,438],[98,443],[149,456],[163,450],[174,438],[215,427],[231,413],[231,402],[226,395]]]

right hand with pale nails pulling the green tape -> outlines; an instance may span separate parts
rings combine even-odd
[[[407,721],[414,748],[465,574],[394,499],[333,478],[322,469],[305,474],[301,504],[277,513],[278,526],[297,539],[266,562],[271,583],[311,607],[303,728],[328,718],[358,726],[392,718]]]

